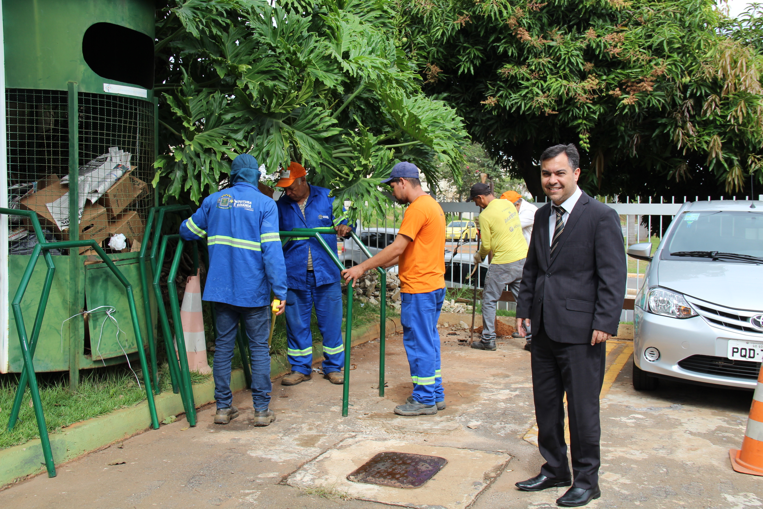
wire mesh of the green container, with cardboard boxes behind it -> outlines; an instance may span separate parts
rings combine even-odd
[[[8,202],[37,213],[48,241],[68,240],[67,93],[6,90]],[[111,252],[140,249],[153,166],[153,105],[79,93],[79,238]],[[10,254],[29,254],[28,224],[11,220]],[[83,250],[84,252],[84,250]],[[62,254],[52,251],[53,254]]]

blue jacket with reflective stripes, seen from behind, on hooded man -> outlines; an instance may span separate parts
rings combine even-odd
[[[204,198],[180,225],[183,240],[207,238],[204,301],[254,308],[286,298],[286,269],[275,202],[249,182]]]

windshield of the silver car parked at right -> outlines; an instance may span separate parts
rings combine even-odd
[[[763,257],[763,211],[687,211],[674,221],[678,224],[665,253],[671,259],[726,262],[729,255]]]

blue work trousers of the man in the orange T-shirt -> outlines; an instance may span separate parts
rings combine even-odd
[[[422,404],[445,401],[443,377],[439,372],[437,320],[443,309],[445,288],[427,293],[403,293],[400,321],[403,346],[414,382],[414,400]]]

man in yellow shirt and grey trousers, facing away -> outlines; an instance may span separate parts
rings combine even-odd
[[[527,256],[527,242],[522,234],[517,208],[508,200],[495,198],[488,185],[472,185],[467,201],[474,201],[482,209],[479,214],[482,245],[475,253],[475,265],[479,265],[488,253],[492,253],[488,276],[482,289],[482,337],[472,343],[472,348],[495,350],[496,304],[506,285],[509,285],[514,300],[517,300]]]

